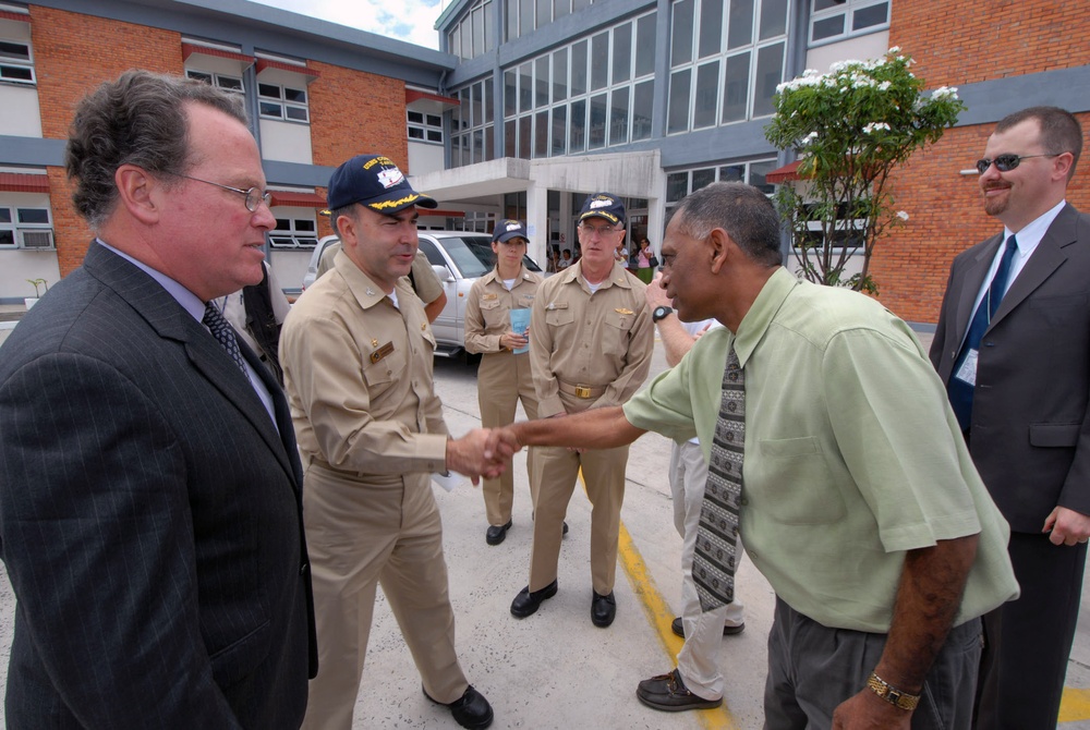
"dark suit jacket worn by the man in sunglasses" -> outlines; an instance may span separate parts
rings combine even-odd
[[[954,259],[931,345],[949,382],[1002,233]],[[1090,514],[1090,216],[1066,205],[1000,303],[981,341],[970,451],[1017,532],[1057,504]]]

